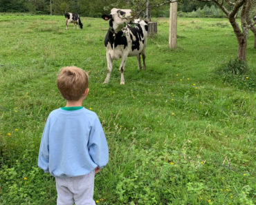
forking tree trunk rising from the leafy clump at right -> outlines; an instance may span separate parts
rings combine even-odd
[[[204,2],[214,2],[221,8],[221,10],[226,14],[230,24],[234,30],[235,36],[237,37],[238,52],[237,58],[246,61],[246,48],[248,40],[248,29],[252,25],[248,25],[246,21],[246,16],[250,12],[250,1],[252,0],[197,0]],[[237,23],[237,14],[241,10],[241,28],[239,23]]]

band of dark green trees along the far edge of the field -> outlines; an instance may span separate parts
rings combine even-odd
[[[170,14],[170,3],[164,3],[162,0],[151,0],[152,5],[151,12],[152,17],[169,17]],[[133,9],[135,13],[140,13],[140,17],[145,16],[145,5],[146,0],[138,1],[122,1],[122,0],[55,0],[53,1],[53,14],[62,15],[64,12],[76,12],[80,16],[84,17],[100,17],[105,12],[109,12],[111,8],[130,8]],[[160,6],[162,5],[162,6]],[[204,6],[211,6],[213,3],[205,3],[200,1],[179,1],[179,11],[183,16],[191,17],[205,17],[202,16],[203,13],[201,9]],[[193,11],[197,11],[194,14]],[[32,14],[50,14],[50,0],[1,0],[0,12],[30,12]],[[187,12],[192,12],[191,14],[186,14]],[[212,12],[212,11],[211,11]],[[210,14],[211,17],[220,17],[219,14]]]

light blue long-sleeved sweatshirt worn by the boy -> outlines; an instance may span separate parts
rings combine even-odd
[[[53,110],[46,121],[38,166],[54,177],[86,175],[109,160],[98,116],[86,108]]]

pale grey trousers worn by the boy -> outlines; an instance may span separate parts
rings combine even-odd
[[[88,175],[55,177],[57,205],[95,205],[93,200],[95,170]]]

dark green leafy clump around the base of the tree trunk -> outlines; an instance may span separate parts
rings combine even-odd
[[[231,59],[217,69],[217,75],[224,82],[237,86],[239,89],[255,90],[256,73],[248,68],[246,61]]]

